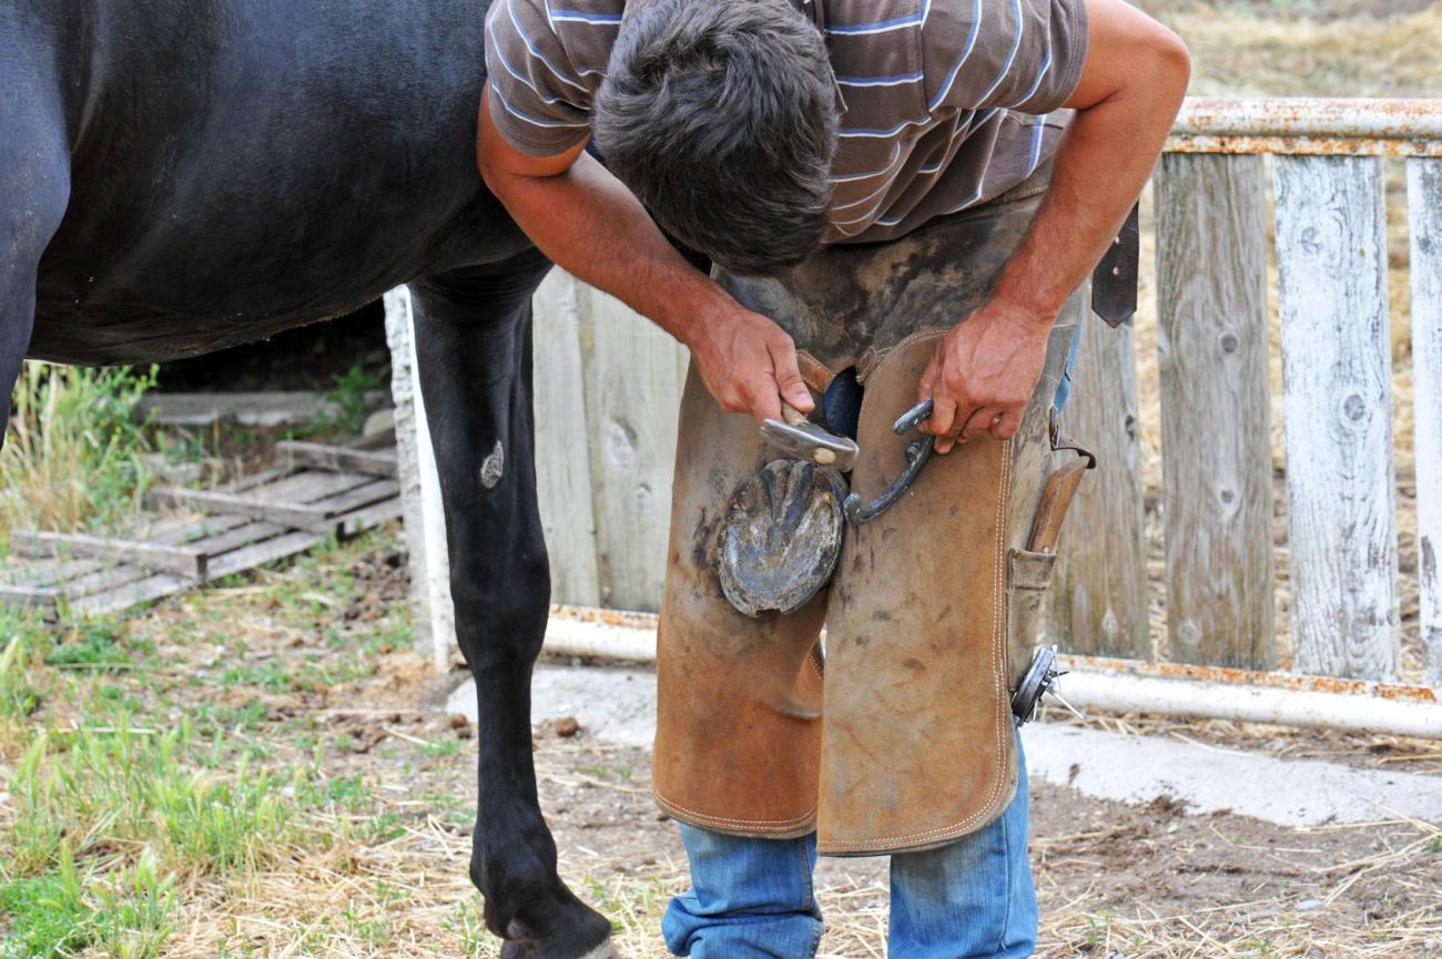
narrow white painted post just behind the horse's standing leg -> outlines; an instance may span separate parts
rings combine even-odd
[[[437,669],[444,671],[456,648],[446,512],[441,509],[441,485],[435,473],[431,433],[425,425],[425,399],[421,397],[415,362],[415,314],[411,309],[411,291],[405,287],[385,294],[385,332],[391,346],[391,392],[395,397],[405,539],[411,551],[415,648]]]

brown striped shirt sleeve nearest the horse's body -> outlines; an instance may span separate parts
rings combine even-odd
[[[535,0],[495,0],[486,14],[490,120],[529,156],[555,156],[591,130],[591,89]]]

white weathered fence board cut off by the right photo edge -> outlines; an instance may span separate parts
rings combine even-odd
[[[1422,643],[1426,681],[1442,689],[1442,160],[1407,160],[1407,209]]]

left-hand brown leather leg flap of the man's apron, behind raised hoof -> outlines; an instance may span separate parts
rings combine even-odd
[[[695,369],[681,423],[656,649],[656,802],[718,832],[805,835],[816,818],[826,597],[784,617],[731,607],[715,575],[718,523],[731,490],[773,453],[756,420],[722,412]]]

